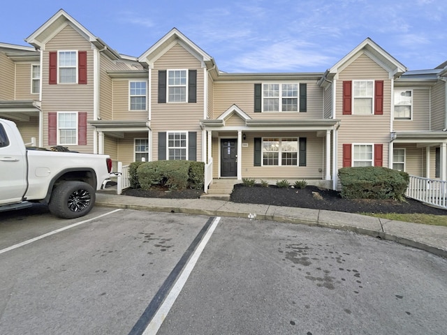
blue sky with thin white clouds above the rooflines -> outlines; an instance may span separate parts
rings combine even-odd
[[[447,61],[446,0],[6,1],[0,43],[27,45],[60,8],[134,57],[175,27],[228,73],[324,72],[368,37],[409,70]]]

